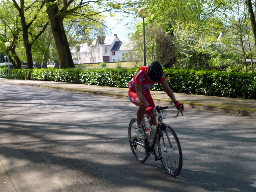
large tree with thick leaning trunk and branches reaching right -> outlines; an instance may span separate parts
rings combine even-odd
[[[123,11],[125,7],[132,7],[130,2],[118,3],[115,1],[78,1],[78,0],[46,0],[46,12],[48,14],[51,29],[54,36],[56,49],[59,56],[61,68],[72,68],[74,63],[72,60],[67,36],[63,27],[63,20],[69,15],[81,16],[90,20],[91,25],[101,24],[101,20],[97,20],[96,16],[103,12]]]

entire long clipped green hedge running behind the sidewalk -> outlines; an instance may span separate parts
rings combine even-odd
[[[79,84],[127,87],[135,69],[11,69],[11,79],[62,81]],[[256,99],[256,73],[164,69],[174,92],[220,97]],[[0,69],[0,78],[8,78],[8,68]],[[152,90],[163,91],[156,84]]]

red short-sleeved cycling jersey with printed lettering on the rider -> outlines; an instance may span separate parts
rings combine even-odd
[[[136,92],[135,84],[140,84],[142,86],[142,92],[143,94],[146,94],[149,92],[149,90],[156,84],[156,82],[149,83],[149,79],[147,77],[147,68],[148,66],[143,66],[138,69],[138,71],[135,73],[132,80],[129,82],[128,88]],[[165,80],[165,77],[163,76],[159,82],[162,82]]]

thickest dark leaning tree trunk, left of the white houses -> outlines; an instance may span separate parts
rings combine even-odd
[[[46,1],[51,30],[55,40],[55,45],[59,57],[60,68],[74,68],[72,55],[70,52],[67,36],[63,27],[63,17],[60,14],[58,6],[56,4],[49,4],[49,0]]]

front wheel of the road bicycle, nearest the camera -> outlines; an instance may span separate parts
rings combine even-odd
[[[158,133],[158,152],[166,172],[177,176],[182,168],[182,152],[176,133],[168,125],[163,125]]]

